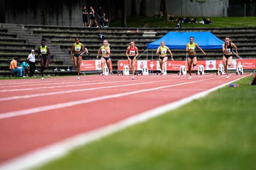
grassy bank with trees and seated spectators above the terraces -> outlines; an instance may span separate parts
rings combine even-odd
[[[176,20],[178,17],[174,17]],[[189,17],[191,18],[191,17]],[[195,18],[195,17],[193,17]],[[198,22],[204,17],[196,17]],[[212,24],[181,23],[182,27],[255,27],[256,17],[205,17],[210,18]],[[163,22],[163,17],[127,17],[127,27],[176,27],[176,22]],[[109,23],[110,27],[120,27],[121,19],[117,18]]]

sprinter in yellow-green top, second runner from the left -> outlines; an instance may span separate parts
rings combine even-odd
[[[74,66],[77,68],[77,79],[80,79],[80,64],[82,61],[82,55],[84,54],[84,45],[82,45],[79,41],[79,37],[75,38],[76,42],[71,46],[71,61],[74,61]],[[82,52],[81,52],[82,51]],[[74,56],[73,56],[74,52]]]

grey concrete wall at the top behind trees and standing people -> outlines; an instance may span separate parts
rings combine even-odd
[[[188,0],[168,0],[169,14],[175,16],[224,17],[224,6],[228,0],[207,0],[207,3],[190,3]],[[82,6],[99,6],[109,20],[121,16],[121,4],[115,0],[6,0],[6,23],[83,26]],[[127,16],[131,15],[131,0],[125,2]],[[139,14],[140,3],[137,3]],[[160,10],[160,0],[148,0],[147,15],[154,16]],[[89,15],[88,15],[89,18]]]

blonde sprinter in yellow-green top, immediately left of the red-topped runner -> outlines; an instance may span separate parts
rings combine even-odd
[[[104,71],[105,71],[104,70],[104,65],[105,65],[105,63],[107,63],[109,72],[111,71],[111,59],[109,57],[110,47],[109,47],[109,43],[108,43],[107,40],[103,40],[103,45],[99,48],[96,59],[99,58],[100,52],[102,52],[102,57],[101,57],[102,75],[104,75]]]

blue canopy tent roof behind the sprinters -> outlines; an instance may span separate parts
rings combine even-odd
[[[222,49],[221,41],[210,32],[169,32],[162,38],[148,43],[148,49],[157,49],[160,46],[160,42],[164,41],[166,46],[170,49],[184,49],[186,44],[189,43],[189,37],[194,37],[194,42],[202,49]]]

